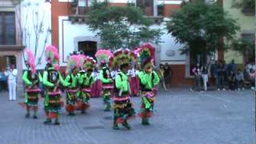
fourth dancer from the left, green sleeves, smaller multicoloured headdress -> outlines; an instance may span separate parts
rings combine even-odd
[[[86,112],[86,110],[90,107],[90,91],[91,87],[95,82],[95,78],[92,75],[94,71],[96,61],[94,58],[86,57],[84,59],[83,66],[86,70],[85,74],[81,74],[78,76],[80,90],[78,93],[78,110],[81,110],[82,114]]]

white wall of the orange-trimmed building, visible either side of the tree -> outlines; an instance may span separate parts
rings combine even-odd
[[[60,54],[60,64],[61,66],[66,66],[66,58],[68,58],[69,54],[75,50],[77,42],[75,42],[75,38],[82,37],[90,37],[94,38],[94,32],[90,31],[86,24],[72,24],[68,17],[60,16],[58,18],[59,22],[59,54]],[[164,30],[165,24],[163,23],[161,26],[155,25],[152,28],[160,28],[163,30],[164,34],[162,34],[162,43],[159,44],[161,47],[161,61],[168,62],[170,64],[185,64],[186,63],[186,55],[181,55],[179,49],[182,48],[182,45],[174,42],[174,38],[167,34],[167,31]],[[174,52],[173,56],[168,56],[166,53],[168,50],[172,50]]]

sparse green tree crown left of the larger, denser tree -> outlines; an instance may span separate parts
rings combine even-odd
[[[137,6],[110,6],[110,3],[93,2],[88,25],[102,39],[104,48],[134,48],[141,42],[160,42],[161,30],[151,29],[153,19],[146,18]]]

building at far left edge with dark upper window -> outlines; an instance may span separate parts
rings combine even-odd
[[[0,70],[15,65],[18,69],[18,88],[22,87],[22,34],[18,15],[20,10],[12,0],[0,2]]]

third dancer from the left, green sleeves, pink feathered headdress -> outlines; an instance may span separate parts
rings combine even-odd
[[[76,98],[78,94],[78,71],[80,67],[80,56],[78,54],[71,55],[68,63],[68,75],[66,76],[65,82],[70,85],[67,86],[66,90],[66,111],[69,115],[75,115],[76,110]]]

